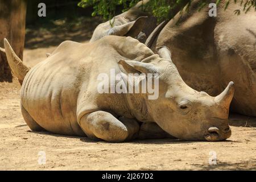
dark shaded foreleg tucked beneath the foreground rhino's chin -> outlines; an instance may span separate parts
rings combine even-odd
[[[138,139],[175,138],[162,130],[156,123],[142,123]]]

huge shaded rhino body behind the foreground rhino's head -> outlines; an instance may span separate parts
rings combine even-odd
[[[233,1],[228,9],[224,6],[221,1],[217,16],[210,17],[208,6],[198,11],[199,1],[192,1],[188,12],[157,27],[146,45],[155,53],[161,46],[171,49],[181,77],[193,89],[216,96],[233,80],[231,110],[256,117],[256,13],[251,9],[245,14]],[[234,15],[237,9],[239,16]]]

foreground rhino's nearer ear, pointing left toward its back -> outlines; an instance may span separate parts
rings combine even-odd
[[[155,67],[155,65],[151,63],[142,63],[139,61],[131,61],[131,60],[120,60],[118,61],[118,64],[121,64],[123,69],[127,73],[134,73],[134,72],[140,72],[140,73],[158,73],[158,69]]]

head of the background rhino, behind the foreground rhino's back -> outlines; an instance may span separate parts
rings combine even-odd
[[[107,35],[131,36],[140,42],[145,42],[147,36],[156,27],[156,19],[142,8],[148,2],[150,1],[139,1],[131,9],[99,24],[94,30],[90,42],[95,42]]]

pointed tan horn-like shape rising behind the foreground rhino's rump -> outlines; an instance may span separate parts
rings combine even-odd
[[[13,72],[13,75],[18,78],[20,84],[22,84],[24,77],[27,75],[27,72],[30,71],[26,65],[23,64],[22,60],[15,54],[13,48],[11,48],[7,39],[5,42],[5,53],[7,57],[8,64]]]

